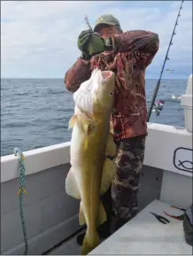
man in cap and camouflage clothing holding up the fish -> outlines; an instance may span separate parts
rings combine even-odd
[[[149,31],[124,32],[111,14],[97,19],[94,33],[84,30],[78,37],[81,57],[66,72],[66,89],[75,92],[97,66],[116,74],[112,112],[113,138],[118,147],[117,174],[102,200],[107,221],[98,228],[99,237],[109,237],[138,212],[137,194],[143,167],[147,108],[145,69],[158,51],[158,35]],[[111,230],[111,231],[110,231]],[[77,238],[82,244],[84,234]]]

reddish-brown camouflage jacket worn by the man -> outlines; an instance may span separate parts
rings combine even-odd
[[[147,135],[145,68],[158,51],[158,35],[143,30],[115,35],[119,49],[92,57],[86,65],[78,58],[66,72],[66,89],[74,92],[89,79],[94,66],[116,74],[112,123],[115,141]]]

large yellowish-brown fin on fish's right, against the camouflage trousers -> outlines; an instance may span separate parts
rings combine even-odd
[[[117,170],[117,165],[111,159],[104,160],[103,174],[101,177],[100,195],[103,195],[110,187]]]

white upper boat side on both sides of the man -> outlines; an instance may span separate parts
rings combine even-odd
[[[185,129],[157,123],[148,123],[149,135],[146,138],[144,165],[157,167],[192,176],[174,167],[174,150],[178,147],[192,149],[192,135]],[[56,144],[32,151],[24,151],[26,175],[41,172],[50,167],[64,165],[70,161],[70,142]],[[18,157],[1,157],[1,182],[19,177]]]

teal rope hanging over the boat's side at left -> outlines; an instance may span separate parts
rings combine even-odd
[[[25,189],[25,166],[24,166],[24,155],[19,150],[19,148],[14,149],[14,155],[19,157],[19,168],[20,168],[20,177],[19,177],[19,210],[20,210],[20,220],[21,225],[23,229],[23,236],[24,236],[24,242],[25,242],[25,251],[24,255],[27,255],[28,252],[28,243],[27,243],[27,229],[25,224],[25,218],[24,218],[24,211],[23,211],[23,194],[27,194],[27,190]]]

